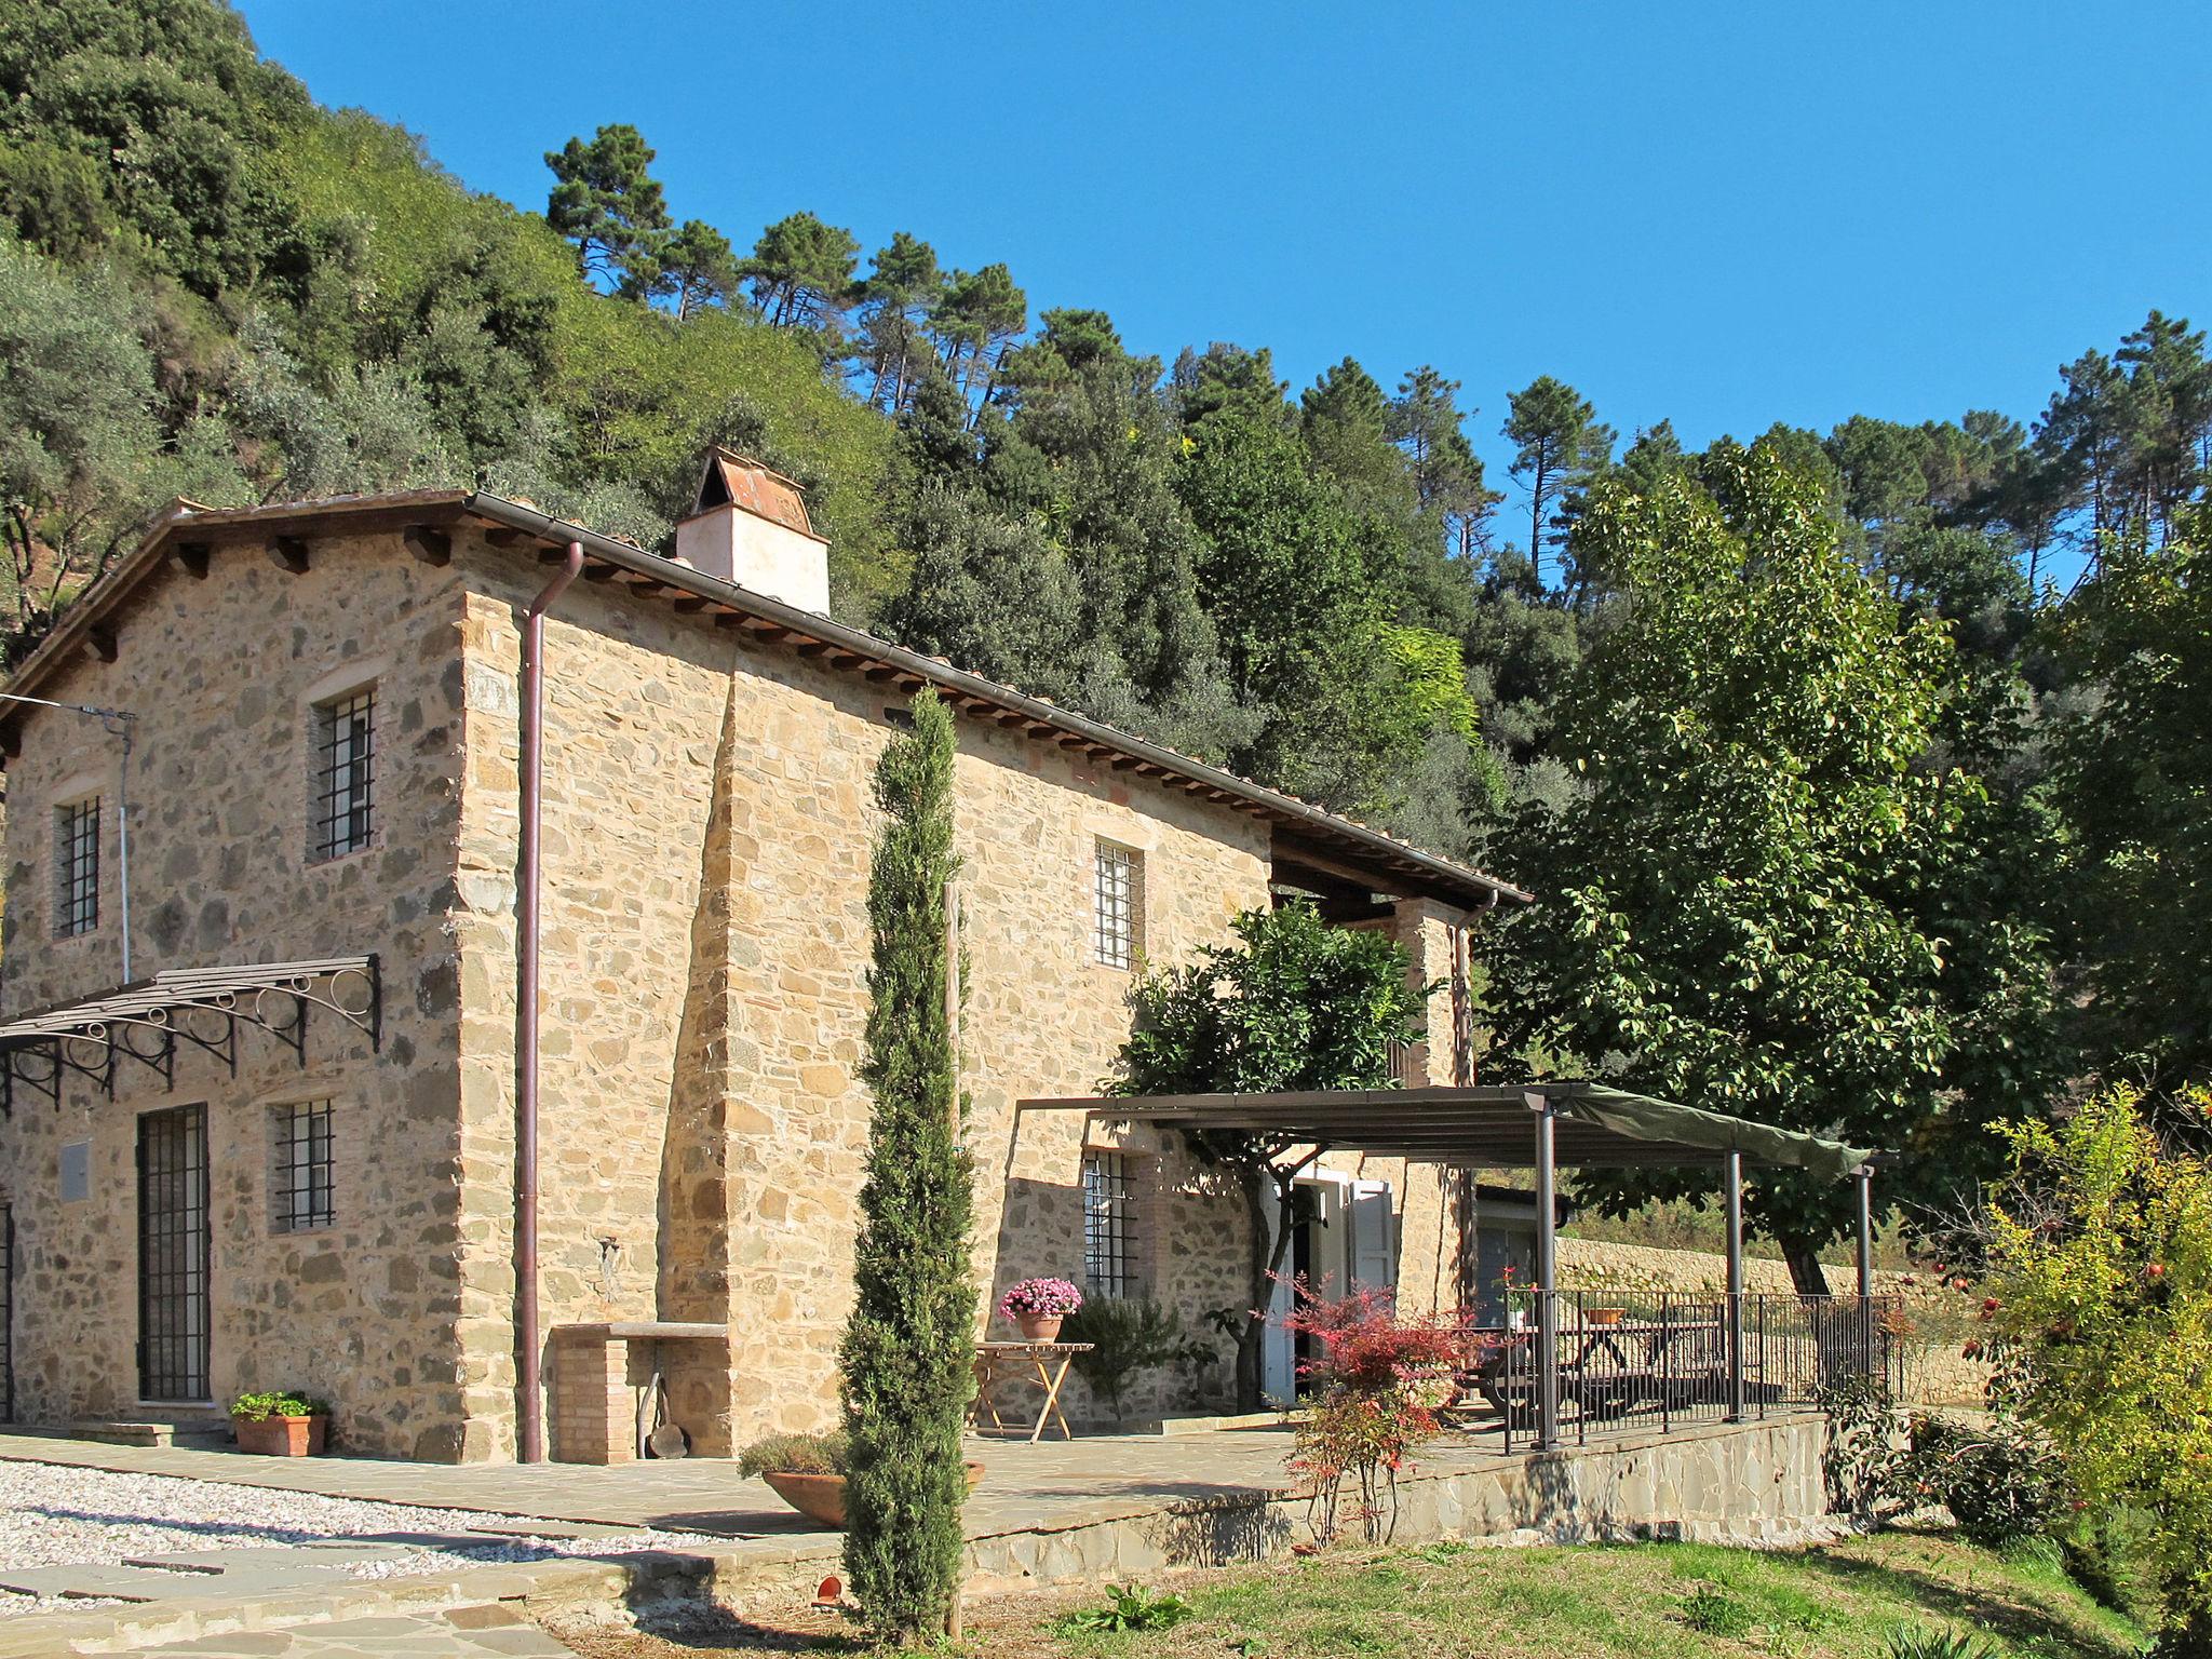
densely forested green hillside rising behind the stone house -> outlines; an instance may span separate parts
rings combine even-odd
[[[2077,356],[2031,422],[1690,453],[1548,376],[1478,411],[1436,365],[1294,389],[1263,345],[1168,361],[1102,310],[1033,314],[1004,263],[947,268],[927,226],[865,250],[807,210],[686,219],[653,159],[577,135],[526,210],[319,108],[219,0],[0,0],[9,655],[173,495],[480,484],[659,546],[730,442],[805,484],[843,619],[1546,883],[1582,933],[1540,960],[1522,929],[1513,973],[1615,1018],[1524,1011],[1524,1044],[1650,1051],[1666,975],[1759,980],[1750,905],[1661,971],[1666,894],[1590,896],[1641,836],[1650,880],[1697,847],[1761,902],[1860,907],[1887,964],[1809,998],[1911,1002],[1971,938],[1922,1035],[2006,1097],[2205,1057],[2212,369],[2183,321]],[[1801,706],[1851,741],[1783,730]],[[1776,774],[1803,799],[1710,818]],[[1632,964],[1590,956],[1608,929]],[[1966,1086],[1929,1066],[1927,1099]]]

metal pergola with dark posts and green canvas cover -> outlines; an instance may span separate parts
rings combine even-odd
[[[1469,1088],[1323,1088],[1267,1095],[1082,1095],[1018,1110],[1265,1135],[1285,1148],[1405,1157],[1447,1168],[1535,1170],[1537,1447],[1557,1442],[1557,1172],[1719,1164],[1728,1210],[1728,1416],[1743,1418],[1743,1170],[1794,1168],[1858,1183],[1858,1294],[1874,1294],[1874,1152],[1595,1082]]]

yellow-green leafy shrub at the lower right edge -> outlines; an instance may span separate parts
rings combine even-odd
[[[2185,1091],[2199,1133],[2212,1097]],[[2154,1655],[2212,1655],[2212,1166],[2163,1146],[2132,1088],[2011,1128],[1986,1217],[2006,1398],[2081,1504],[2148,1520]]]

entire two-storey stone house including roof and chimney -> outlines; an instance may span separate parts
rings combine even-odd
[[[524,617],[573,562],[533,785]],[[1015,1110],[1088,1093],[1133,969],[1239,909],[1298,889],[1389,929],[1447,982],[1407,1075],[1469,1077],[1464,936],[1522,894],[825,611],[799,491],[734,456],[672,560],[467,491],[166,513],[11,686],[75,708],[0,712],[9,1416],[303,1387],[365,1453],[507,1460],[535,1418],[551,1455],[606,1460],[659,1378],[703,1453],[825,1427],[869,776],[922,686],[960,730],[978,1329],[1029,1274],[1197,1329],[1241,1305],[1243,1208],[1172,1135]],[[1455,1301],[1460,1188],[1332,1157],[1303,1254]],[[1179,1371],[1148,1405],[1223,1385]]]

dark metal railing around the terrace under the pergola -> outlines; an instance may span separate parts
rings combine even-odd
[[[1858,1376],[1900,1387],[1898,1314],[1896,1296],[1517,1290],[1504,1327],[1467,1327],[1455,1380],[1506,1449],[1668,1433],[1803,1411]]]

